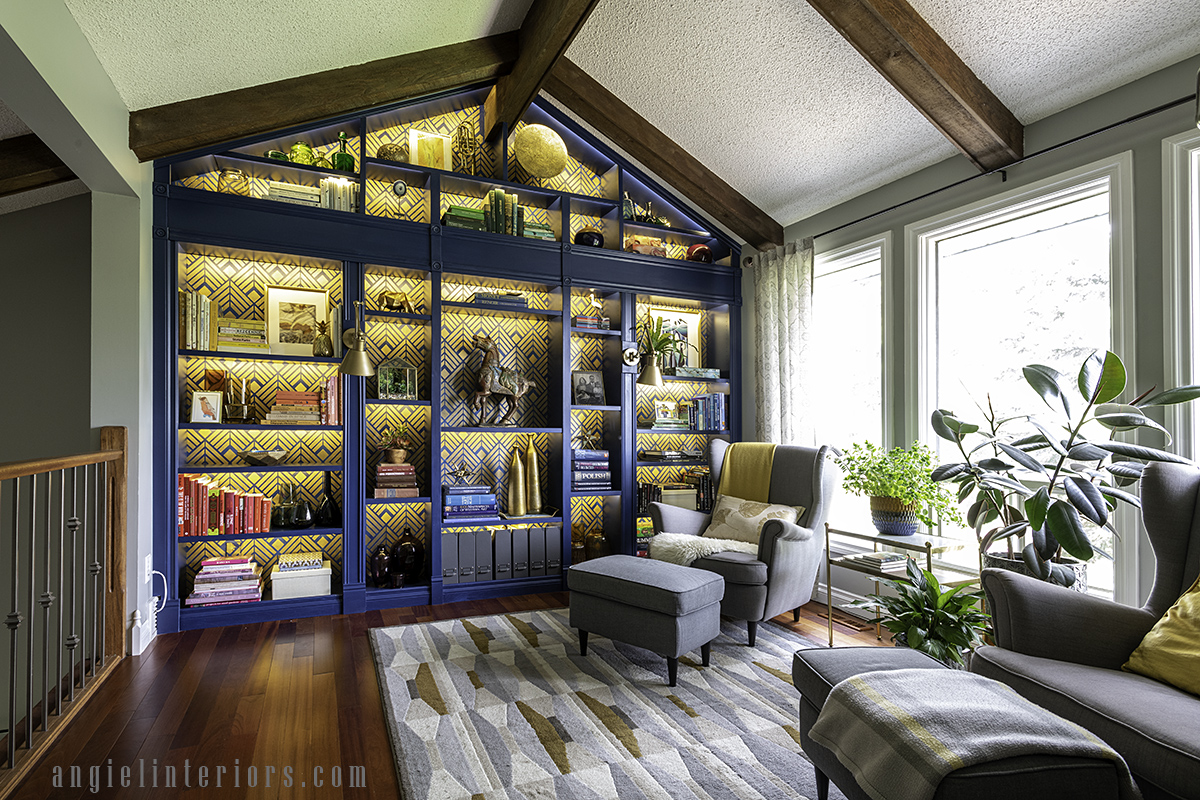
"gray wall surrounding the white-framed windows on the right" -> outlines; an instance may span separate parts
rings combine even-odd
[[[1135,80],[1126,86],[1110,91],[1091,101],[1055,114],[1025,128],[1025,151],[1033,154],[1057,145],[1074,137],[1090,133],[1097,128],[1111,125],[1140,112],[1186,97],[1195,91],[1196,70],[1200,56],[1188,59],[1157,73]],[[860,217],[876,213],[896,203],[920,197],[926,192],[948,186],[955,181],[978,174],[966,158],[958,156],[943,161],[919,173],[882,186],[872,192],[856,197],[847,203],[802,219],[785,228],[787,241],[803,236],[816,235],[817,253],[835,249],[868,237],[875,237],[884,231],[892,231],[892,263],[896,276],[902,276],[905,263],[905,231],[907,224],[919,222],[935,215],[985,200],[1010,190],[1058,175],[1076,167],[1114,156],[1120,152],[1133,152],[1134,178],[1134,258],[1136,302],[1133,320],[1136,336],[1136,351],[1122,353],[1126,361],[1136,368],[1139,387],[1163,386],[1165,369],[1165,343],[1163,333],[1163,157],[1162,140],[1166,137],[1188,131],[1194,125],[1195,106],[1186,103],[1181,107],[1156,114],[1145,120],[1121,126],[1108,133],[1091,137],[1054,152],[1039,156],[1030,162],[1007,170],[1007,180],[1000,175],[979,178],[964,186],[941,192],[931,198],[911,203],[880,217],[853,224],[845,230],[829,235],[820,235]],[[746,279],[746,303],[752,305],[752,281]],[[886,332],[894,337],[892,374],[894,385],[887,386],[894,398],[892,429],[896,432],[898,441],[907,444],[916,435],[911,429],[905,408],[904,377],[910,365],[904,362],[904,335],[908,324],[906,314],[911,309],[904,305],[904,279],[894,282],[893,307],[896,313],[892,327]],[[744,314],[744,336],[748,349],[752,348],[754,314]],[[818,344],[820,345],[820,344]],[[752,351],[752,349],[750,350]],[[752,421],[754,408],[754,371],[746,369],[745,422]],[[821,380],[821,377],[815,377]],[[748,431],[752,431],[750,427]],[[901,441],[902,440],[902,441]],[[1136,564],[1132,565],[1126,591],[1118,590],[1118,597],[1130,602],[1145,597],[1153,575],[1153,555],[1142,539]],[[835,576],[836,578],[836,576]],[[1120,579],[1120,578],[1118,578]],[[1135,585],[1128,585],[1133,583]]]

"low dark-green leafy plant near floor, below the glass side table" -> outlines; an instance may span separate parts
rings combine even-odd
[[[895,590],[892,595],[868,595],[854,606],[878,613],[880,622],[893,633],[896,643],[926,652],[948,667],[964,667],[964,654],[977,648],[988,630],[989,616],[980,610],[982,591],[965,591],[970,584],[953,589],[942,585],[929,570],[908,559],[906,578],[883,579]]]

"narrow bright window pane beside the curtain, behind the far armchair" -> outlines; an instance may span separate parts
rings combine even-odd
[[[839,450],[854,441],[886,445],[883,409],[883,257],[887,240],[817,255],[812,277],[811,395],[817,444]],[[835,378],[834,378],[835,377]],[[838,524],[871,530],[866,498],[838,485]]]

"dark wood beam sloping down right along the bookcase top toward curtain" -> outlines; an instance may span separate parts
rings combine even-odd
[[[782,225],[569,59],[559,59],[545,90],[734,235],[758,249],[784,243]]]

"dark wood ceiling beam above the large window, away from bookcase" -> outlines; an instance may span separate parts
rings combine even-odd
[[[980,169],[1025,151],[1025,128],[905,0],[809,0],[880,74]]]

